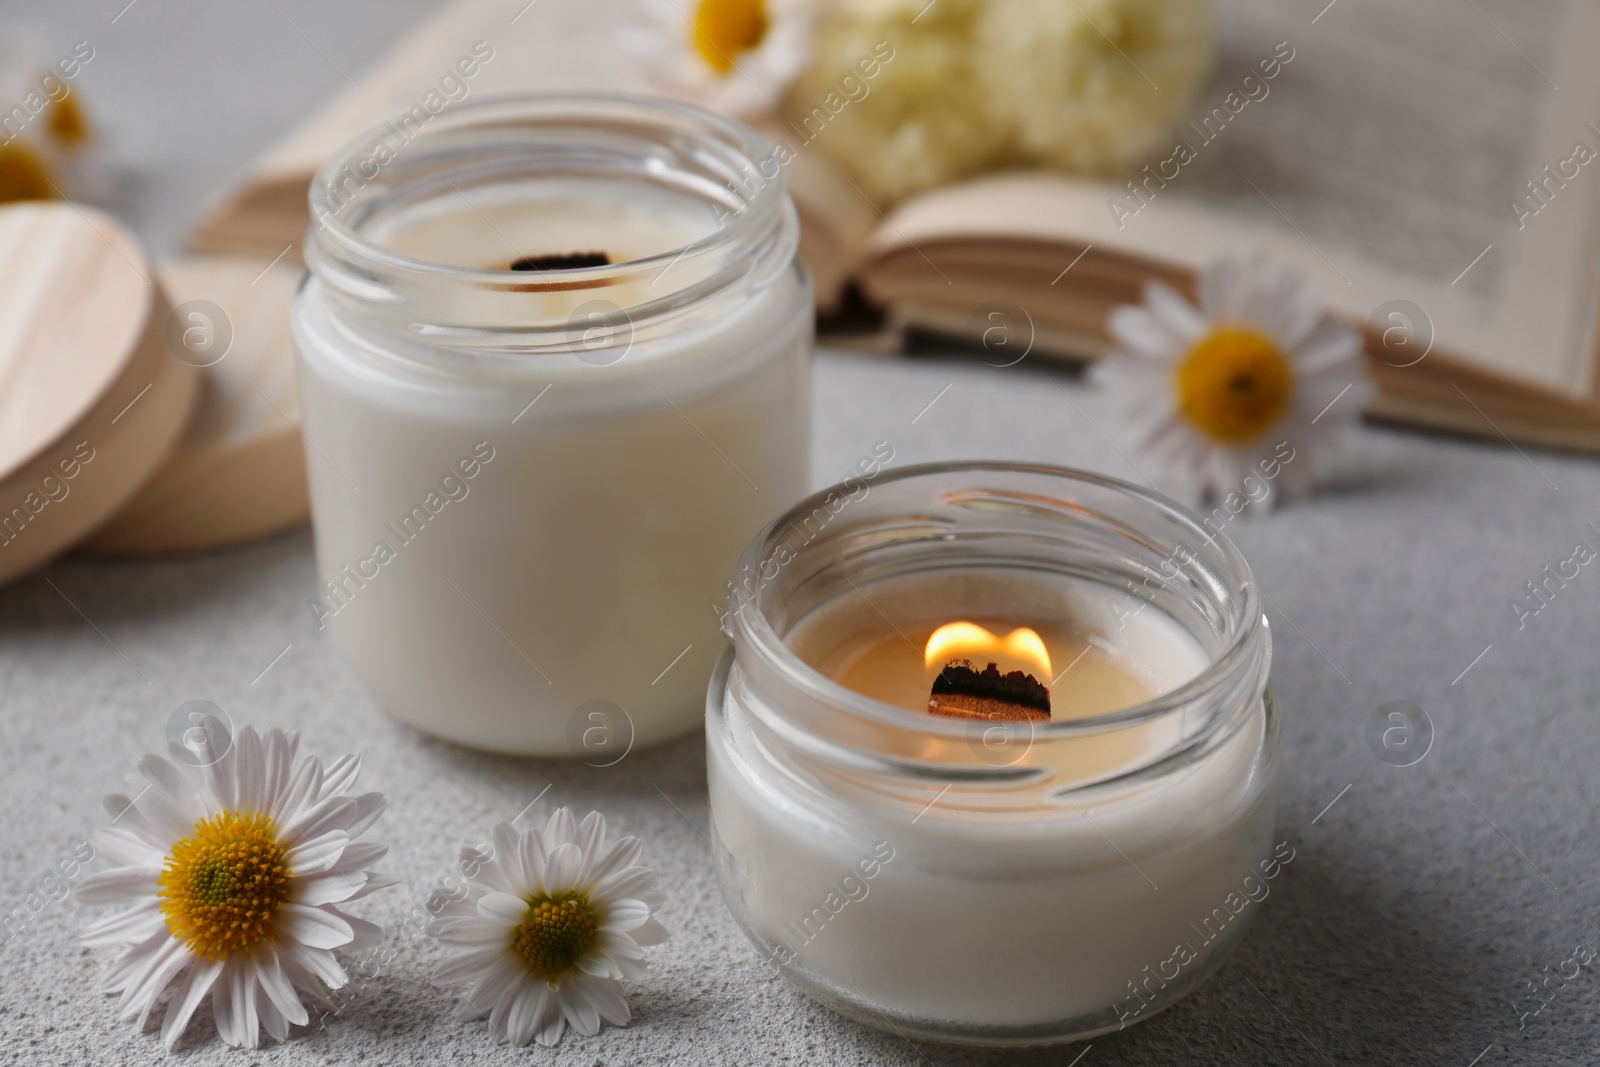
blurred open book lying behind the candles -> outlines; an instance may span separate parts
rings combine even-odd
[[[1003,310],[1034,358],[1093,358],[1109,310],[1146,280],[1186,290],[1221,254],[1264,253],[1365,326],[1371,414],[1600,451],[1600,5],[1218,6],[1216,70],[1173,149],[1118,181],[997,174],[880,210],[814,144],[826,126],[766,130],[787,149],[819,304],[854,282],[891,334],[973,339]],[[195,243],[298,246],[317,163],[397,115],[534,88],[643,90],[626,64],[597,62],[626,11],[448,5],[258,160]]]

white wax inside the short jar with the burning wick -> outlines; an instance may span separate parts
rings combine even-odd
[[[1051,721],[1157,697],[1210,662],[1182,625],[1123,590],[1005,571],[867,584],[811,611],[784,640],[856,691],[926,709],[920,648],[954,619],[1043,638],[1061,672]],[[986,744],[984,729],[974,725],[973,744]],[[1176,729],[1147,723],[995,747],[992,761],[1045,768],[1064,790],[1114,779]],[[886,795],[882,779],[805,757],[795,757],[806,782],[797,787],[778,771],[786,760],[757,755],[749,718],[730,712],[726,736],[710,739],[715,829],[733,857],[725,891],[776,966],[867,1022],[882,1011],[914,1030],[1000,1040],[1066,1022],[1114,1029],[1208,973],[1243,925],[1213,912],[1230,918],[1245,878],[1259,880],[1258,864],[1272,857],[1264,731],[1258,702],[1194,766],[1070,792],[1046,801],[1054,811],[1000,811],[954,777]],[[939,744],[930,739],[930,758]],[[861,741],[872,747],[870,736]]]

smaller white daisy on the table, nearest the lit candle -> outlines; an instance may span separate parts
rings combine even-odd
[[[438,984],[470,984],[456,1016],[482,1019],[512,1045],[555,1045],[629,1019],[621,979],[645,974],[645,945],[667,939],[656,918],[656,872],[642,845],[610,846],[605,817],[562,808],[544,832],[494,825],[493,851],[461,849],[466,891],[437,904],[432,933],[458,955]],[[430,904],[434,907],[434,904]]]

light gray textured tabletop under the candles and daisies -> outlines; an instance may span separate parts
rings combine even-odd
[[[50,54],[94,43],[82,85],[138,173],[123,214],[157,250],[338,69],[358,70],[426,6],[138,0],[112,24],[123,2],[70,0],[22,21]],[[0,5],[8,27],[22,6]],[[896,464],[982,456],[1136,477],[1094,429],[1094,397],[1027,363],[822,354],[816,387],[819,485],[878,438]],[[386,867],[406,878],[368,902],[373,918],[398,923],[456,845],[550,787],[541,808],[597,806],[648,840],[677,936],[634,990],[629,1029],[557,1049],[507,1049],[482,1024],[450,1021],[424,979],[434,950],[416,944],[288,1046],[235,1054],[190,1038],[186,1062],[1592,1064],[1600,974],[1550,977],[1542,1000],[1530,982],[1546,966],[1570,974],[1576,944],[1600,947],[1587,784],[1600,576],[1586,568],[1522,630],[1507,606],[1574,541],[1597,544],[1590,520],[1592,461],[1366,429],[1318,498],[1235,523],[1275,605],[1280,835],[1298,857],[1195,997],[1088,1051],[1010,1056],[912,1046],[766,981],[712,881],[699,736],[600,771],[398,726],[312,629],[306,531],[179,561],[66,560],[0,590],[0,910],[24,915],[0,947],[0,1061],[163,1059],[155,1035],[117,1022],[94,992],[106,958],[74,939],[86,910],[34,897],[35,910],[29,894],[102,822],[99,795],[134,755],[163,744],[168,713],[206,697],[235,721],[302,729],[314,752],[365,753],[365,781],[390,797]],[[1374,758],[1365,737],[1392,699],[1434,723],[1432,750],[1410,768]]]

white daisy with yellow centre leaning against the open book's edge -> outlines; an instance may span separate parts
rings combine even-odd
[[[1131,459],[1190,502],[1310,488],[1370,397],[1362,341],[1318,293],[1262,259],[1222,259],[1200,306],[1150,283],[1110,317],[1118,350],[1094,371],[1122,416]],[[1250,478],[1250,482],[1246,482]]]

